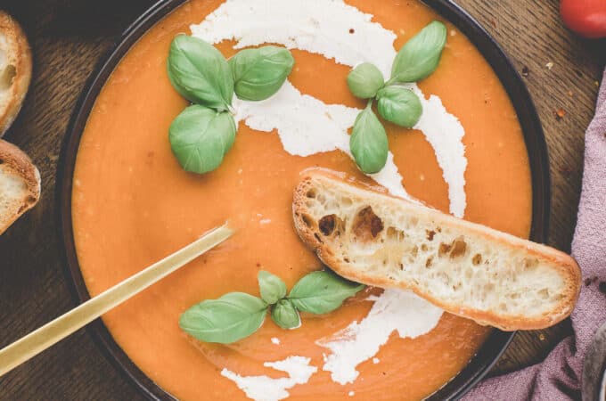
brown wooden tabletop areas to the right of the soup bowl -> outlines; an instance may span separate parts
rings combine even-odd
[[[570,34],[555,0],[483,2],[458,0],[504,48],[535,102],[547,141],[552,174],[549,243],[570,250],[577,221],[585,129],[593,117],[606,45]],[[548,63],[553,63],[549,69]],[[526,75],[526,77],[525,77]],[[564,110],[563,118],[556,117]],[[508,372],[542,360],[571,332],[569,321],[550,330],[517,334],[493,372]]]

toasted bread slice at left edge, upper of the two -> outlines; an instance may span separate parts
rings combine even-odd
[[[17,117],[31,79],[31,51],[17,21],[0,10],[0,137]]]

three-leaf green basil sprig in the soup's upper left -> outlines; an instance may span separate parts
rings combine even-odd
[[[294,59],[282,47],[264,46],[221,52],[196,37],[178,35],[168,52],[168,79],[194,105],[170,125],[168,140],[185,171],[202,174],[217,168],[235,139],[233,93],[245,100],[275,94],[291,73]]]

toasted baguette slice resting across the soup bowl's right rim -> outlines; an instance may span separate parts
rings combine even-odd
[[[295,189],[297,233],[337,274],[505,331],[572,311],[581,274],[569,255],[380,191],[318,169]]]

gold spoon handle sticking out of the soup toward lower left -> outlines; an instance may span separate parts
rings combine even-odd
[[[233,234],[233,229],[225,223],[200,239],[193,241],[181,250],[177,250],[167,258],[132,275],[123,282],[103,291],[82,305],[75,307],[65,315],[61,315],[50,323],[46,323],[36,331],[13,342],[0,350],[0,376],[10,372],[16,366],[36,356],[46,348],[63,340],[72,332],[84,327],[97,317],[103,315],[113,307],[117,307],[125,300],[145,290],[154,282],[158,282],[179,267],[198,258],[201,254],[214,248]]]

